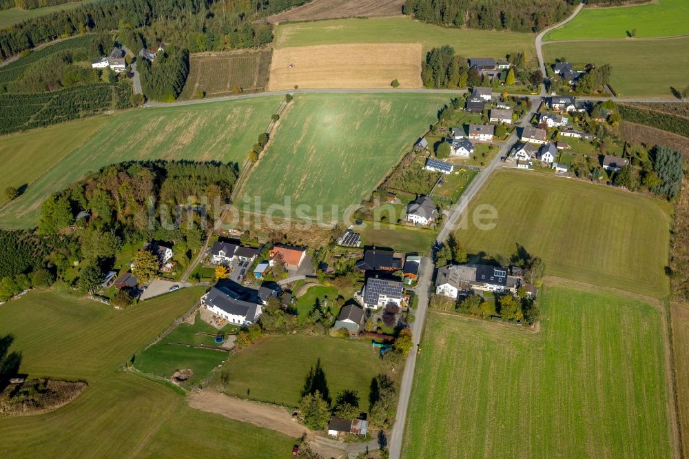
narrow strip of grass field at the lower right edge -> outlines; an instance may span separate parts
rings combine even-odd
[[[677,374],[677,402],[682,427],[684,457],[689,454],[689,305],[672,303],[672,341]]]

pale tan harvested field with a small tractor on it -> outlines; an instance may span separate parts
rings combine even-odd
[[[269,90],[299,88],[421,87],[418,43],[318,45],[280,48],[270,67]]]

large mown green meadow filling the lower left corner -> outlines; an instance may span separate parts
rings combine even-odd
[[[85,379],[89,387],[48,414],[0,418],[0,456],[54,456],[60,451],[60,456],[121,458],[205,451],[289,457],[294,439],[196,411],[165,385],[116,372],[202,292],[203,287],[183,289],[123,312],[52,292],[30,293],[3,305],[0,336],[14,335],[10,351],[21,352],[20,371]],[[196,429],[196,436],[180,434]],[[211,434],[223,440],[206,441]]]

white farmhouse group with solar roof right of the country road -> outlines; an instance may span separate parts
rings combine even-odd
[[[517,266],[446,265],[435,276],[435,294],[454,300],[473,290],[514,294],[522,285],[528,294],[535,295],[535,287],[524,283],[524,270]]]

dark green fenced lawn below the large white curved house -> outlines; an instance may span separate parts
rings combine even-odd
[[[227,358],[227,351],[214,341],[216,333],[217,329],[203,322],[196,314],[194,325],[181,323],[161,341],[136,355],[134,367],[163,378],[172,376],[176,369],[191,369],[192,378],[183,384],[183,387],[189,389],[206,378],[212,369]],[[213,346],[218,350],[193,347],[194,345]]]

